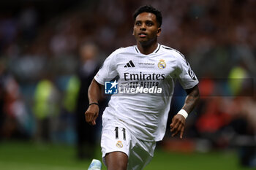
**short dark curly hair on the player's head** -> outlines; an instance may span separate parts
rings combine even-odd
[[[135,13],[133,14],[133,19],[136,20],[136,17],[143,12],[149,12],[152,13],[154,15],[156,15],[157,18],[157,23],[159,24],[159,27],[162,26],[162,14],[159,10],[155,9],[154,7],[152,7],[151,5],[145,5],[142,7],[139,7]]]

